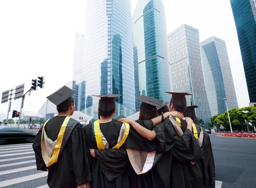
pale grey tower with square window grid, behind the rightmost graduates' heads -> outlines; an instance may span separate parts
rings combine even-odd
[[[199,30],[183,24],[168,35],[174,92],[187,92],[187,105],[198,105],[196,114],[206,122],[211,112],[207,100],[201,62]]]

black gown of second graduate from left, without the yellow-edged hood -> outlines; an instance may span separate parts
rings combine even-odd
[[[109,148],[113,148],[117,144],[121,126],[122,122],[117,120],[99,124]],[[93,176],[93,181],[90,182],[91,188],[129,188],[129,171],[127,171],[129,160],[126,151],[122,150],[122,146],[120,153],[114,152],[117,150],[113,150],[113,153],[109,152],[111,150],[98,150],[93,124],[86,125],[83,130],[87,145],[90,149],[95,149],[97,156],[96,158],[89,156],[90,170]],[[118,160],[121,160],[122,163],[116,162]]]

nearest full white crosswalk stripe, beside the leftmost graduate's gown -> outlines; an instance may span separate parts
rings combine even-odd
[[[9,180],[0,182],[0,187],[5,187],[5,186],[21,183],[21,182],[30,181],[33,179],[38,179],[41,177],[46,177],[47,175],[48,175],[48,172],[42,172],[42,173],[19,177],[19,178],[15,178],[15,179],[9,179]]]

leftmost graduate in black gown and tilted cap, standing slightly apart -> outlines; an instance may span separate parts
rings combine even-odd
[[[48,171],[49,188],[90,188],[92,180],[82,125],[70,118],[75,91],[62,87],[47,99],[58,115],[44,123],[33,143],[37,170]]]

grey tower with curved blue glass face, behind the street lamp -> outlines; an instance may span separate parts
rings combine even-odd
[[[224,40],[210,37],[201,42],[202,63],[207,97],[212,116],[238,108],[236,91]]]

